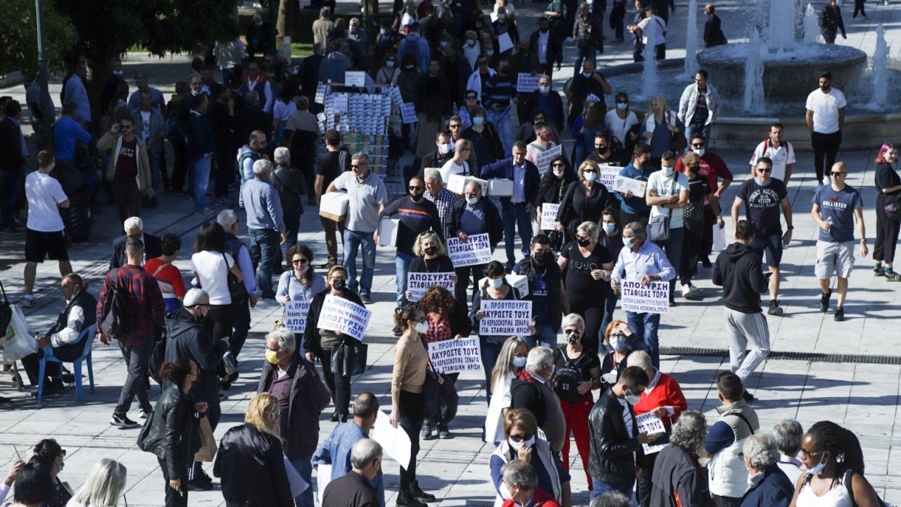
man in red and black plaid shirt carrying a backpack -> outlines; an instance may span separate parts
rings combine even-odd
[[[97,303],[97,334],[100,336],[100,343],[110,344],[110,336],[100,331],[100,323],[104,318],[104,300],[106,292],[110,290],[110,280],[116,277],[119,286],[129,293],[129,333],[127,336],[115,336],[125,358],[128,376],[123,383],[122,393],[119,395],[119,402],[115,406],[110,424],[120,428],[137,428],[139,424],[128,419],[127,414],[135,395],[141,404],[139,412],[141,419],[147,418],[153,410],[147,397],[144,375],[147,373],[150,354],[153,352],[159,330],[166,324],[166,303],[159,292],[157,281],[141,267],[144,245],[140,239],[128,238],[125,243],[125,256],[128,263],[106,274],[104,288],[100,291],[100,300]]]

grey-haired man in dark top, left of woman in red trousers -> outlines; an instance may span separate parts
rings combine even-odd
[[[560,398],[551,383],[553,374],[553,351],[545,346],[533,347],[526,358],[525,368],[510,386],[510,408],[531,411],[538,420],[538,427],[548,438],[551,449],[559,453],[567,431]]]

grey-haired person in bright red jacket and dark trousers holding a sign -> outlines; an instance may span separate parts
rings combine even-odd
[[[669,434],[672,423],[685,410],[688,410],[688,401],[682,388],[676,379],[653,367],[651,355],[647,352],[635,351],[626,360],[628,366],[638,366],[648,373],[651,383],[642,392],[642,399],[633,405],[635,416],[652,413],[663,420],[663,425]],[[651,505],[651,476],[654,474],[654,461],[656,453],[645,454],[644,467],[638,474],[638,500],[642,507]]]

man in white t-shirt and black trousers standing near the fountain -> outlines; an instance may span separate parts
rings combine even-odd
[[[833,74],[820,74],[820,88],[807,96],[807,130],[814,148],[814,169],[817,184],[824,183],[824,167],[833,167],[835,156],[842,146],[844,108],[848,105],[842,90],[833,88]]]

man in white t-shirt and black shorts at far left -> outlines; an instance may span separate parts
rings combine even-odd
[[[59,207],[68,207],[68,197],[59,181],[50,177],[56,160],[47,150],[38,153],[38,171],[25,177],[28,223],[25,228],[25,306],[34,306],[34,276],[44,257],[59,261],[59,274],[72,272],[68,262],[66,235]]]

